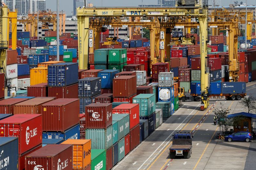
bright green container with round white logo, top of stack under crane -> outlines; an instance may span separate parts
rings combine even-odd
[[[127,62],[127,49],[117,48],[117,49],[109,50],[108,64],[122,64],[126,62]]]

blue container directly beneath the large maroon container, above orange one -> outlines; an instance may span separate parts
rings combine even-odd
[[[80,139],[80,124],[64,132],[43,132],[43,139]]]

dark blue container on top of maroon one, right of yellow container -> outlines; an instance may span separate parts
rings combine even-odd
[[[64,87],[78,82],[78,63],[57,63],[48,66],[48,85]]]

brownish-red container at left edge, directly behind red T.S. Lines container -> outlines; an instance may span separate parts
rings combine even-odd
[[[19,99],[19,98],[10,98],[0,101],[0,114],[12,114],[13,115],[13,107],[15,104],[20,103],[22,101],[26,101],[28,99]]]

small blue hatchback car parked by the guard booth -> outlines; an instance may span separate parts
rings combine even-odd
[[[249,132],[236,132],[231,135],[225,136],[225,141],[231,142],[231,141],[246,141],[250,142],[252,140],[252,134]]]

